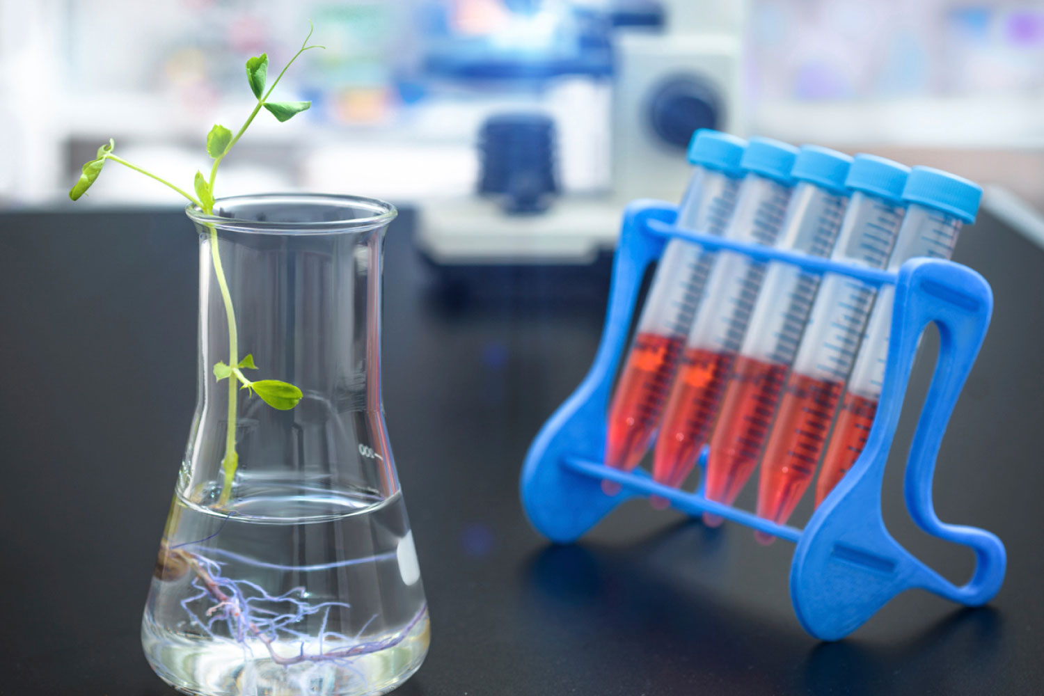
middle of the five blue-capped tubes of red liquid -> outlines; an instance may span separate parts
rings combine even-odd
[[[824,147],[801,148],[791,171],[798,186],[776,246],[830,255],[849,200],[845,178],[851,163]],[[710,500],[731,504],[757,465],[818,285],[818,275],[798,266],[768,264],[710,440],[704,488]],[[704,519],[720,524],[716,515]]]

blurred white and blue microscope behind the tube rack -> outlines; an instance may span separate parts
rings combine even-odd
[[[693,130],[742,129],[743,3],[496,2],[493,30],[447,31],[426,57],[490,111],[474,195],[424,206],[418,244],[444,271],[590,264],[626,201],[681,197]]]

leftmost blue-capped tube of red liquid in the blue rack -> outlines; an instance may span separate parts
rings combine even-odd
[[[679,226],[712,235],[726,231],[743,174],[739,162],[744,147],[739,138],[716,130],[702,128],[693,135],[688,158],[694,168],[679,209]],[[608,465],[631,470],[645,454],[712,261],[698,244],[682,239],[667,243],[610,406]],[[602,487],[611,495],[618,490],[609,481]]]

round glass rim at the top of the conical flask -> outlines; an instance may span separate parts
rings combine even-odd
[[[284,206],[328,209],[321,220],[258,220],[237,217],[236,208],[278,209]],[[396,207],[378,198],[331,193],[259,193],[226,196],[214,200],[217,214],[207,214],[195,203],[185,214],[199,225],[255,234],[330,235],[356,234],[387,225],[396,218]],[[220,214],[228,211],[228,214]]]

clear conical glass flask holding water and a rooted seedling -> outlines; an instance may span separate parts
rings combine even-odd
[[[145,655],[189,694],[385,693],[429,640],[381,402],[381,250],[396,210],[261,195],[214,211],[187,210],[198,398]]]

